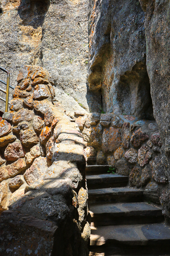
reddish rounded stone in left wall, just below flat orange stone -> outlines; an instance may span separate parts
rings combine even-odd
[[[6,160],[15,161],[18,158],[25,157],[25,150],[18,142],[13,142],[7,146],[4,152]]]

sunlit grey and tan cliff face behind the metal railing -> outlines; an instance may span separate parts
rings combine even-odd
[[[0,0],[0,66],[10,71],[13,87],[23,65],[40,65],[51,74],[54,100],[68,112],[99,109],[86,86],[87,8],[86,0]]]

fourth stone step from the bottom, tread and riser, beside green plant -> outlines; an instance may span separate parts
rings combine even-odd
[[[86,175],[88,189],[122,187],[128,183],[128,176],[118,174]]]

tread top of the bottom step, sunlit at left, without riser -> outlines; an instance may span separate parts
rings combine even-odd
[[[167,241],[170,248],[170,227],[164,223],[143,225],[102,226],[91,229],[90,245],[104,244],[147,245]]]

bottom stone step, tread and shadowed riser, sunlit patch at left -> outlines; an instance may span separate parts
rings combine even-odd
[[[92,227],[90,251],[105,256],[169,254],[170,227],[164,223]]]

